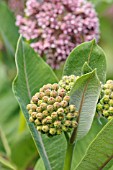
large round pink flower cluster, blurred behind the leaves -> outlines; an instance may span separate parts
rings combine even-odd
[[[86,0],[28,0],[25,17],[17,16],[16,25],[55,69],[78,44],[99,39],[98,17]]]

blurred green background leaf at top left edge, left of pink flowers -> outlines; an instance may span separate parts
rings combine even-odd
[[[3,1],[0,1],[0,34],[8,52],[14,56],[19,37],[18,28],[15,26],[13,13]]]

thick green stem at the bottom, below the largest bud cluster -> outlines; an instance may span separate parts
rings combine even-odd
[[[75,143],[67,143],[66,157],[64,161],[64,170],[71,170],[72,157],[74,151]]]

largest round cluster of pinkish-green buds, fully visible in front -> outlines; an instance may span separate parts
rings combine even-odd
[[[44,85],[27,105],[29,121],[38,131],[48,136],[70,132],[77,127],[75,105],[69,105],[70,97],[57,83]]]

